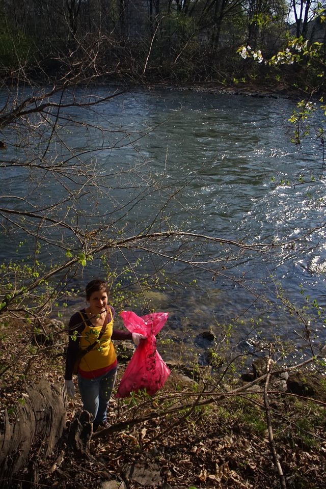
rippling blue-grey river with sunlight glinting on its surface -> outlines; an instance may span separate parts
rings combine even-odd
[[[96,88],[93,93],[103,96],[108,89]],[[88,224],[80,222],[81,226],[91,229],[100,214],[106,224],[110,219],[123,220],[123,233],[131,235],[156,218],[162,230],[170,227],[261,244],[290,241],[320,227],[295,246],[265,254],[243,252],[236,261],[228,256],[229,251],[235,253],[231,248],[221,252],[216,244],[205,248],[197,244],[194,249],[187,245],[188,258],[195,253],[201,261],[222,257],[222,262],[210,266],[216,274],[180,262],[166,263],[166,274],[177,274],[178,285],[157,288],[153,305],[170,312],[166,332],[195,345],[201,358],[208,344],[194,336],[211,329],[220,337],[221,324],[234,318],[237,328],[230,342],[237,350],[253,351],[263,339],[281,336],[299,351],[305,344],[303,324],[276,298],[276,291],[282,294],[282,290],[298,308],[316,301],[312,311],[314,316],[320,311],[320,317],[312,321],[313,341],[317,346],[325,340],[324,203],[318,200],[324,199],[325,183],[295,185],[300,175],[310,180],[312,173],[322,174],[322,148],[313,137],[302,146],[290,142],[293,128],[288,119],[293,108],[294,103],[283,98],[140,90],[92,110],[67,108],[60,114],[60,140],[48,149],[53,160],[73,155],[74,164],[96,165],[99,179],[94,185],[104,181],[107,185],[105,196],[96,202],[87,195],[80,198],[80,208],[89,212]],[[17,142],[17,135],[9,132],[6,138]],[[39,148],[45,147],[42,138]],[[17,146],[8,146],[10,156],[25,157]],[[25,171],[13,168],[2,173],[6,195],[24,199],[28,195],[30,204],[44,208],[55,202],[54,195],[64,196],[59,178],[44,179],[40,173],[31,183]],[[10,205],[12,199],[2,202]],[[112,225],[116,232],[118,228]],[[56,253],[45,248],[40,257],[49,264],[56,261]],[[1,258],[11,255],[17,256],[7,237]],[[146,253],[142,257],[145,271],[158,266],[157,258],[152,261]],[[122,262],[120,255],[117,263]],[[100,263],[91,262],[74,283],[82,286],[101,273]],[[302,359],[308,352],[304,349],[297,355]]]

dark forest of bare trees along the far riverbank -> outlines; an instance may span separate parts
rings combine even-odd
[[[45,82],[67,72],[70,79],[87,78],[94,62],[90,52],[96,52],[97,81],[105,76],[144,84],[320,85],[304,62],[281,67],[243,62],[236,51],[248,45],[270,58],[289,36],[319,42],[323,51],[322,2],[2,0],[0,11],[3,79]]]

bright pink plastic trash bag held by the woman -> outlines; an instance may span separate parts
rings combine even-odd
[[[128,397],[130,392],[146,389],[152,396],[164,386],[170,374],[170,369],[156,350],[157,333],[166,323],[168,312],[155,312],[146,316],[137,316],[134,312],[120,313],[124,325],[131,333],[147,336],[137,346],[127,368],[122,376],[117,397]]]

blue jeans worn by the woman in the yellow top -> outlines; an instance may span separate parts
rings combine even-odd
[[[106,421],[106,410],[117,377],[117,367],[95,378],[78,374],[78,387],[85,411],[92,415],[94,424]]]

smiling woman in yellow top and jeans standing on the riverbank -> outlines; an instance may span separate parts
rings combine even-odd
[[[117,356],[112,340],[132,339],[138,345],[146,336],[113,329],[115,310],[107,304],[108,291],[103,280],[87,284],[86,300],[89,306],[73,314],[69,321],[65,388],[67,394],[74,397],[72,374],[78,354],[84,350],[78,366],[78,387],[95,431],[98,426],[108,426],[107,404],[117,377]]]

